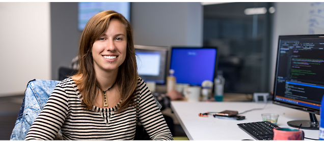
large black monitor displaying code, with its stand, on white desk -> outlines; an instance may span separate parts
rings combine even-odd
[[[309,113],[287,124],[318,129],[315,114],[324,94],[324,34],[279,36],[273,103]]]

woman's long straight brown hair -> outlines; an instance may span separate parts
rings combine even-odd
[[[93,43],[104,34],[112,19],[119,20],[126,28],[127,34],[126,58],[119,66],[116,80],[116,86],[119,87],[118,89],[120,90],[122,99],[117,111],[119,113],[129,105],[135,103],[133,96],[136,94],[138,80],[132,27],[123,15],[112,10],[107,10],[97,13],[88,21],[82,32],[79,44],[78,57],[80,69],[74,77],[80,77],[75,83],[79,88],[79,92],[82,94],[82,105],[85,109],[91,110],[97,91],[102,93],[100,91],[102,89],[95,77],[91,49]]]

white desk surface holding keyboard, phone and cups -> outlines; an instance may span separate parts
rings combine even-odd
[[[254,110],[242,114],[245,120],[228,120],[208,117],[199,117],[199,113],[221,112],[225,110],[242,113],[255,108],[263,108],[265,103],[255,102],[185,102],[171,101],[171,109],[177,117],[181,127],[190,140],[242,140],[254,139],[240,129],[238,123],[262,121],[262,113],[279,114],[279,127],[289,127],[287,121],[309,120],[306,112],[290,109],[268,102],[263,110]],[[319,120],[319,115],[316,115]],[[305,137],[318,139],[318,130],[305,130]],[[305,139],[308,140],[308,139]]]

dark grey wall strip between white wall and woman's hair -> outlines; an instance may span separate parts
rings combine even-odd
[[[77,29],[77,3],[50,3],[51,79],[59,79],[59,68],[69,67],[77,55],[82,31]]]

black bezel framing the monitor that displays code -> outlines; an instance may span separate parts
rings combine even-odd
[[[288,108],[292,108],[292,109],[296,109],[296,110],[300,110],[300,111],[304,111],[304,112],[308,112],[311,114],[316,114],[319,115],[319,109],[317,108],[312,108],[312,107],[307,107],[304,105],[299,105],[299,104],[294,104],[294,103],[288,103],[285,101],[280,101],[280,100],[276,100],[276,87],[277,87],[277,76],[278,76],[278,62],[279,62],[279,54],[280,54],[280,41],[281,40],[294,40],[294,39],[305,39],[305,40],[312,40],[312,39],[322,39],[324,40],[324,34],[310,34],[310,35],[279,35],[279,39],[278,39],[278,47],[277,47],[277,56],[276,56],[276,70],[275,70],[275,80],[274,80],[274,90],[273,90],[273,103],[274,104],[278,104],[278,105],[282,105],[284,107],[288,107]]]

